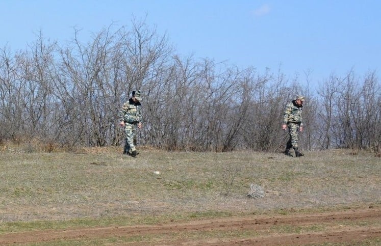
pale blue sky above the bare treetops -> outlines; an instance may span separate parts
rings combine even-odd
[[[0,0],[0,47],[24,49],[42,32],[59,43],[73,27],[90,39],[111,23],[133,16],[167,33],[186,57],[266,67],[292,77],[312,71],[312,83],[350,70],[380,71],[379,0]],[[146,17],[145,17],[146,16]]]

